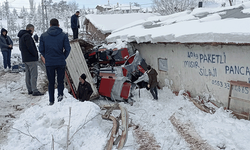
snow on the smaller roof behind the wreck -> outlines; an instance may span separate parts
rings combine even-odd
[[[137,21],[145,20],[149,17],[156,16],[152,13],[129,13],[129,14],[106,14],[106,15],[86,15],[88,19],[102,33],[111,33],[113,30],[122,26]]]

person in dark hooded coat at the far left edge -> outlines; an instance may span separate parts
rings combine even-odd
[[[13,42],[10,39],[9,36],[7,36],[8,31],[4,28],[1,30],[1,36],[0,36],[0,48],[3,54],[3,65],[4,65],[4,71],[7,71],[7,66],[9,69],[11,69],[11,50],[13,48]]]

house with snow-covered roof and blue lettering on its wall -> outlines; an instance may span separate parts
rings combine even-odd
[[[150,17],[113,31],[158,72],[160,86],[250,113],[250,3]],[[245,114],[245,115],[244,115]]]

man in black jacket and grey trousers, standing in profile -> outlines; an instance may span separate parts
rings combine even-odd
[[[37,63],[38,63],[38,51],[33,38],[31,37],[34,32],[34,26],[28,24],[26,30],[20,30],[19,37],[19,49],[22,54],[22,60],[25,65],[25,82],[28,89],[28,94],[33,96],[43,95],[37,89]]]

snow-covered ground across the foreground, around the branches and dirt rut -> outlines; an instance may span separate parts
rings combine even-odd
[[[19,55],[20,52],[17,50],[15,47],[13,54]],[[25,74],[3,73],[2,64],[0,65],[1,150],[48,150],[52,147],[52,138],[56,150],[65,149],[69,107],[69,149],[104,149],[110,137],[112,122],[101,118],[105,111],[99,106],[112,102],[100,99],[82,103],[65,89],[64,100],[48,106],[47,92],[43,91],[45,95],[40,97],[28,95]],[[42,91],[46,86],[45,74],[42,71],[38,80],[38,87]],[[152,100],[149,91],[141,89],[134,92],[136,102],[133,106],[120,103],[127,108],[129,122],[132,125],[124,149],[190,149],[189,144],[178,134],[169,120],[173,114],[183,124],[192,126],[202,140],[214,149],[249,149],[249,121],[238,120],[223,108],[217,108],[215,114],[205,113],[181,93],[176,96],[169,88],[164,87],[159,90],[159,100],[155,101]],[[114,111],[112,115],[116,117],[119,113],[120,111]],[[12,116],[15,118],[11,118]]]

